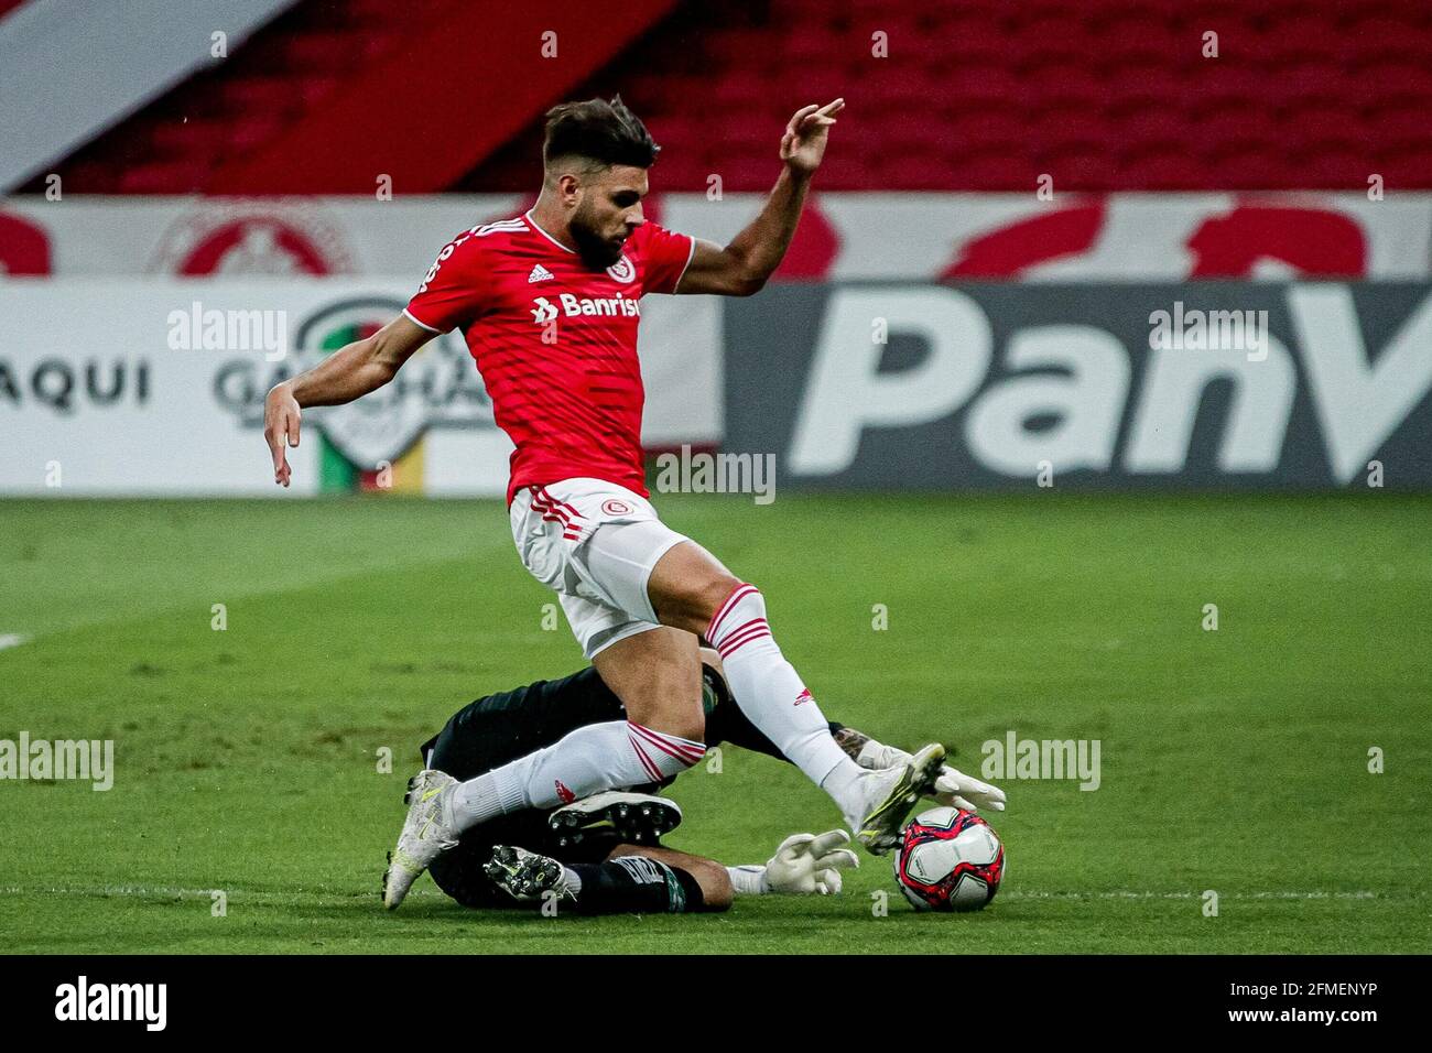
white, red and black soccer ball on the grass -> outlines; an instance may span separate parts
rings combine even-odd
[[[931,808],[901,835],[895,880],[915,910],[979,910],[1002,877],[1004,845],[974,812]]]

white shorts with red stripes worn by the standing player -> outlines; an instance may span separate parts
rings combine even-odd
[[[589,660],[657,628],[646,593],[652,567],[687,539],[649,500],[606,480],[564,479],[523,487],[510,514],[523,566],[557,593]]]

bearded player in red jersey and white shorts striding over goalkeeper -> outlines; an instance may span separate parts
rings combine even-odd
[[[646,221],[647,169],[660,148],[620,97],[554,107],[536,206],[460,234],[402,315],[269,393],[265,437],[275,481],[286,486],[285,444],[298,444],[301,407],[368,394],[435,334],[461,328],[497,424],[517,447],[507,490],[517,550],[557,592],[584,653],[626,706],[626,721],[579,728],[465,782],[421,772],[384,878],[390,908],[478,822],[695,765],[706,751],[702,636],[720,652],[740,709],[833,798],[869,850],[894,845],[938,776],[938,744],[885,771],[845,755],[776,646],[760,590],[663,524],[643,483],[642,297],[759,291],[790,244],[843,105],[803,106],[790,117],[770,198],[725,248]]]

